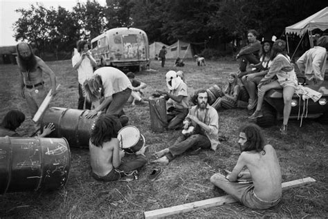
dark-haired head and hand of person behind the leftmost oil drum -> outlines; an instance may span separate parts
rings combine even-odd
[[[22,137],[19,133],[16,132],[16,129],[21,126],[25,120],[24,113],[17,110],[9,111],[0,124],[0,137]],[[52,123],[44,126],[43,133],[37,133],[38,137],[46,137],[55,130],[55,126]]]

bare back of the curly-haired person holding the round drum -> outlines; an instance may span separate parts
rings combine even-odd
[[[104,142],[102,147],[95,146],[89,142],[91,168],[93,173],[104,176],[113,169],[113,150],[118,144],[117,138]]]

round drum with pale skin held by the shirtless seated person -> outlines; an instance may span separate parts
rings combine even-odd
[[[136,153],[145,146],[145,137],[136,126],[125,126],[118,131],[120,147],[127,153]]]

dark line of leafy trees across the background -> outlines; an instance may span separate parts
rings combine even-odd
[[[118,27],[140,28],[149,42],[181,39],[217,49],[246,41],[249,29],[280,38],[286,26],[326,6],[323,0],[107,0],[107,6],[89,0],[66,10],[36,3],[16,10],[20,17],[13,26],[17,41],[35,42],[43,52],[69,52],[79,39]]]

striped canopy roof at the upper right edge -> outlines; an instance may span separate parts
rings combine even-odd
[[[328,7],[323,8],[316,14],[285,28],[286,34],[296,34],[300,37],[308,30],[320,29],[322,31],[328,29]]]

